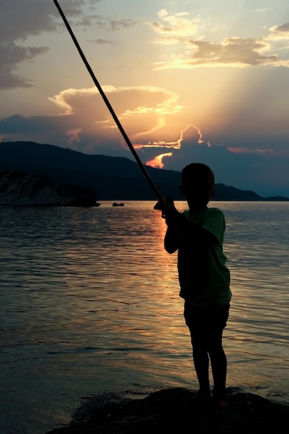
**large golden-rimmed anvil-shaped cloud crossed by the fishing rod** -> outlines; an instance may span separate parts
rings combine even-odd
[[[157,146],[171,135],[177,135],[177,121],[168,121],[183,110],[182,105],[177,104],[179,97],[175,92],[152,86],[110,85],[103,86],[103,92],[133,144]],[[62,118],[66,124],[69,144],[90,136],[97,137],[98,143],[114,140],[124,146],[121,133],[96,87],[63,89],[49,100],[60,109],[58,119]]]

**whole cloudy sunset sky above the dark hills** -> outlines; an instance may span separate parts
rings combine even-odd
[[[59,0],[145,164],[289,197],[288,0]],[[1,0],[0,140],[133,159],[53,0]]]

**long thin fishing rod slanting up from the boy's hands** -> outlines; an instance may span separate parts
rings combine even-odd
[[[78,53],[80,54],[80,58],[82,58],[82,61],[84,62],[85,66],[87,67],[87,71],[89,72],[92,80],[94,81],[94,84],[96,85],[98,92],[103,98],[103,101],[105,102],[105,105],[107,106],[108,110],[110,110],[110,114],[112,115],[114,122],[116,123],[117,127],[119,128],[121,134],[123,135],[123,139],[125,139],[125,143],[130,148],[130,151],[132,152],[132,155],[134,156],[134,159],[137,161],[137,164],[139,164],[139,168],[141,168],[141,171],[143,172],[143,175],[145,175],[146,180],[150,184],[152,190],[154,191],[155,195],[159,199],[159,202],[161,205],[166,205],[166,202],[164,198],[161,196],[161,193],[159,192],[159,189],[155,185],[155,182],[152,181],[152,178],[150,177],[148,171],[146,170],[146,167],[141,162],[141,159],[139,158],[139,155],[137,155],[136,150],[132,146],[132,143],[130,139],[128,138],[128,135],[126,134],[125,130],[123,129],[123,125],[121,125],[121,122],[119,121],[119,118],[116,116],[114,109],[112,108],[112,105],[110,104],[110,101],[108,101],[107,96],[105,95],[105,92],[103,92],[102,87],[98,83],[98,80],[96,79],[96,76],[94,75],[94,71],[92,71],[89,63],[87,62],[87,59],[85,58],[85,54],[83,53],[82,49],[80,48],[80,44],[78,44],[78,40],[76,39],[76,36],[74,35],[71,26],[69,22],[67,21],[67,18],[64,15],[64,12],[62,11],[62,8],[60,7],[60,4],[57,0],[53,0],[56,8],[58,8],[58,12],[60,13],[60,16],[62,17],[65,26],[67,27],[67,30],[69,32],[69,35],[71,35],[71,38],[76,46],[76,49],[78,50]]]

